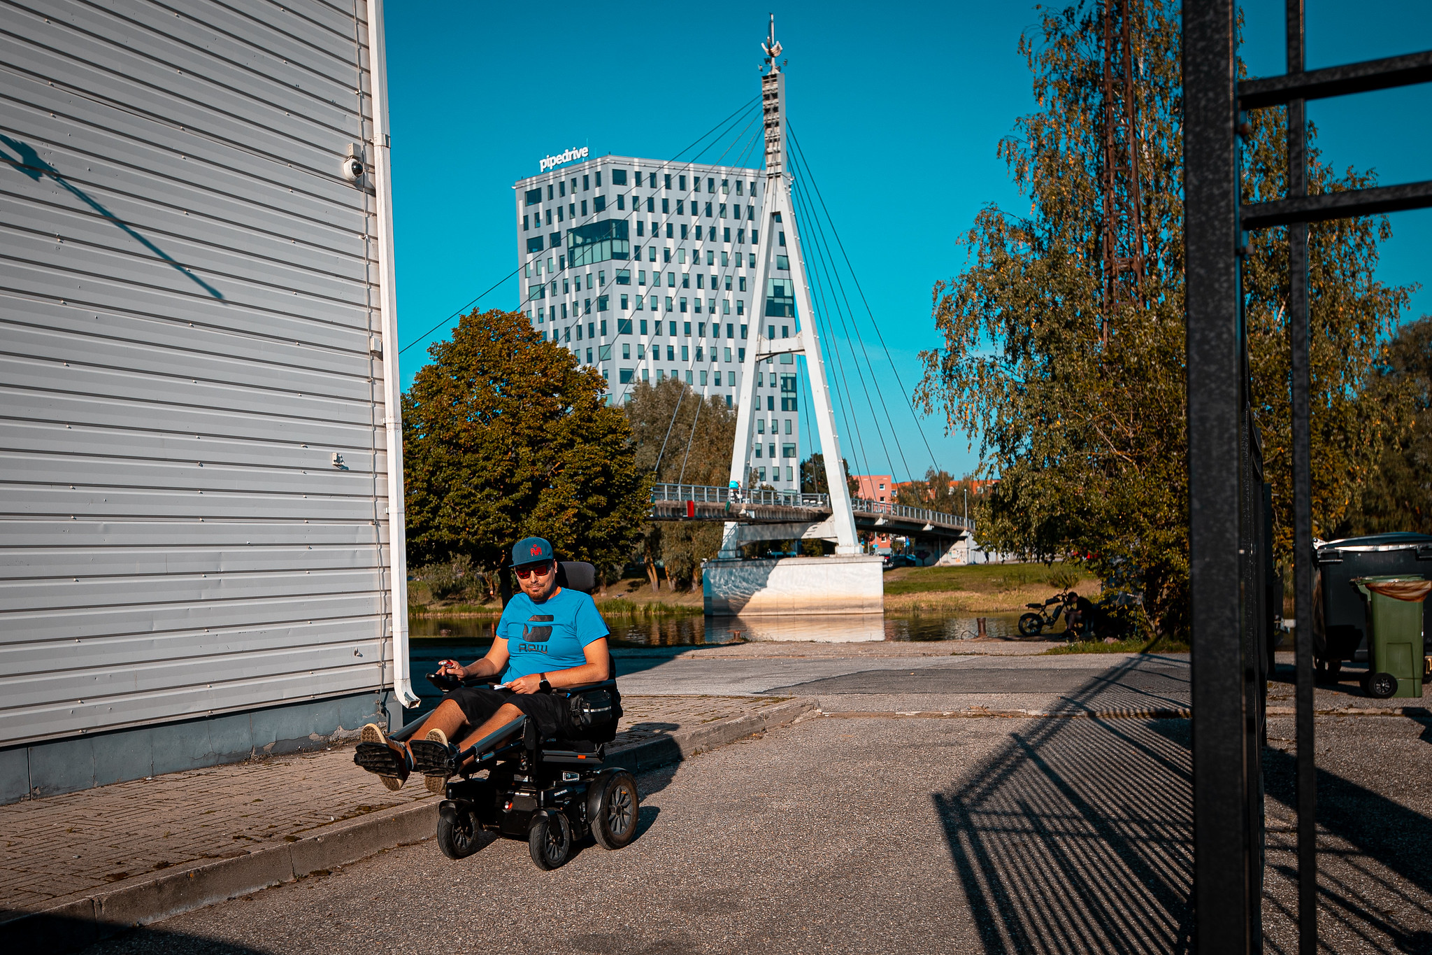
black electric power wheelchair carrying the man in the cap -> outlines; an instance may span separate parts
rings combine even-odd
[[[591,564],[558,563],[557,583],[590,593]],[[591,729],[591,739],[543,739],[527,716],[503,726],[454,757],[455,773],[438,805],[438,846],[450,859],[463,859],[483,846],[483,830],[526,839],[538,869],[556,869],[573,845],[591,835],[603,849],[620,849],[636,838],[640,796],[636,777],[607,762],[606,743],[616,736],[616,666],[601,683],[551,690],[573,703],[574,723]],[[440,690],[478,686],[430,673]],[[407,740],[425,722],[414,720],[391,735]],[[468,759],[471,765],[464,766]],[[477,773],[487,770],[485,777]]]

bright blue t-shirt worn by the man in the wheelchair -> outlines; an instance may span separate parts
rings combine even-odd
[[[530,673],[570,670],[587,661],[583,649],[610,633],[591,597],[563,587],[543,603],[526,593],[507,601],[497,636],[507,640],[503,683]]]

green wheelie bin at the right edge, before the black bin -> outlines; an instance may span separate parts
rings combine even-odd
[[[1432,591],[1425,577],[1358,577],[1368,601],[1368,696],[1422,697],[1422,601]]]

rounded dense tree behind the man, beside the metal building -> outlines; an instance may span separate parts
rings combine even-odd
[[[402,401],[408,563],[481,568],[546,537],[610,578],[640,535],[650,477],[603,378],[521,312],[464,315]]]

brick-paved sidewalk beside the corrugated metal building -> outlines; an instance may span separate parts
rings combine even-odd
[[[613,746],[756,713],[782,697],[627,696]],[[0,806],[0,909],[143,881],[169,866],[296,842],[315,829],[431,799],[387,790],[352,746],[212,766]]]

